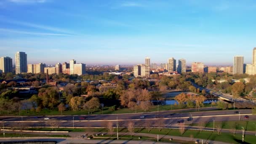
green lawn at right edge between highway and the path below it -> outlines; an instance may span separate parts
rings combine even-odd
[[[218,125],[220,125],[221,128],[223,129],[236,128],[237,130],[241,130],[242,127],[244,127],[246,131],[255,131],[255,125],[253,123],[256,124],[256,121],[255,120],[248,121],[244,119],[241,119],[240,121],[224,121],[224,122],[216,121],[214,123],[214,127],[216,128]],[[200,125],[201,125],[200,123],[192,123],[192,126],[200,126]],[[213,128],[213,122],[205,123],[205,125],[203,126],[207,128]]]

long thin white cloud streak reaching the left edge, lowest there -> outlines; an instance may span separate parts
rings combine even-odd
[[[48,35],[48,36],[71,36],[67,34],[58,34],[58,33],[43,33],[43,32],[27,32],[27,31],[21,31],[21,30],[14,30],[14,29],[4,29],[0,28],[0,32],[5,33],[18,33],[18,34],[25,34],[25,35]]]

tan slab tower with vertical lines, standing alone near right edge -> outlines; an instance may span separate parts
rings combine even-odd
[[[243,74],[243,56],[234,56],[233,58],[233,74]]]

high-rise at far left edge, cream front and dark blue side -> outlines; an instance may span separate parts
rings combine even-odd
[[[13,60],[10,57],[0,58],[0,73],[12,72]]]

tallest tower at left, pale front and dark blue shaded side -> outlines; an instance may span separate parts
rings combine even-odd
[[[17,52],[15,54],[16,74],[27,72],[27,54],[25,52]]]

